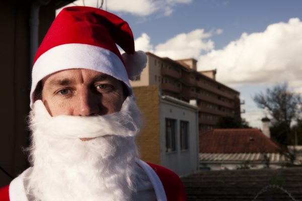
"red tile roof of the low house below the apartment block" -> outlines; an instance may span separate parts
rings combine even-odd
[[[214,129],[199,135],[200,153],[276,153],[278,150],[258,129]]]

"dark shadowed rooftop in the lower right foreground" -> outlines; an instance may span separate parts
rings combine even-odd
[[[181,179],[188,201],[302,200],[301,167],[202,171]]]

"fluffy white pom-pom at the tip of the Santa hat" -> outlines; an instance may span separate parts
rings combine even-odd
[[[128,77],[135,80],[137,75],[146,67],[147,56],[143,51],[135,51],[134,54],[122,54]]]

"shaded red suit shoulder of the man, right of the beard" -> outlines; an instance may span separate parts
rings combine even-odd
[[[183,183],[175,172],[160,165],[156,165],[152,163],[147,163],[147,164],[150,167],[152,167],[152,169],[160,177],[163,186],[165,188],[168,200],[177,200],[177,201],[187,200]]]

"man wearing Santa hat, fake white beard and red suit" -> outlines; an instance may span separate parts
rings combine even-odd
[[[63,9],[32,71],[32,167],[0,189],[0,200],[186,200],[175,173],[137,158],[142,125],[129,78],[145,64],[125,21]]]

